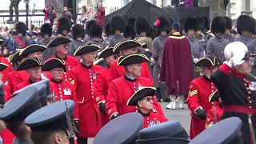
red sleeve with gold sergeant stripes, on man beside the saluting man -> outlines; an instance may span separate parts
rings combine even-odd
[[[189,94],[186,98],[187,100],[187,104],[188,104],[188,107],[191,111],[191,114],[194,114],[195,110],[198,110],[200,107],[199,103],[198,103],[198,87],[197,86],[194,86],[194,84],[190,83],[190,86],[189,86]]]

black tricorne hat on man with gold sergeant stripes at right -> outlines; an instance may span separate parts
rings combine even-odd
[[[198,62],[195,63],[194,66],[202,66],[202,67],[207,67],[207,66],[221,66],[222,61],[215,57],[215,56],[207,56],[204,58],[200,58]]]

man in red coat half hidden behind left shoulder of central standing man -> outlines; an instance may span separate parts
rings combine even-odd
[[[96,80],[94,82],[94,94],[95,102],[97,102],[98,109],[102,112],[102,126],[109,122],[109,118],[106,116],[106,98],[109,90],[110,83],[110,65],[117,58],[117,55],[113,53],[113,47],[102,50],[98,55],[98,59],[104,58],[107,67],[102,71],[98,72],[96,75]]]

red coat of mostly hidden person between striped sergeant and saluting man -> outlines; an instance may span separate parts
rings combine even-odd
[[[222,120],[223,108],[220,106],[219,102],[216,103],[216,118],[217,122]],[[214,125],[214,108],[208,110],[206,116],[206,128]]]

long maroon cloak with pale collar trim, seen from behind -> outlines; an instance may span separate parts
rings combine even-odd
[[[184,36],[170,36],[162,53],[160,81],[166,82],[170,94],[185,95],[192,80],[190,42]]]

